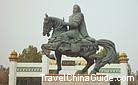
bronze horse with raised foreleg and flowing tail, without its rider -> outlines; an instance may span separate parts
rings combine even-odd
[[[100,39],[95,41],[88,41],[86,39],[81,39],[78,42],[70,39],[70,43],[62,42],[60,39],[60,35],[64,32],[67,32],[67,26],[64,26],[64,20],[56,18],[56,17],[49,17],[46,15],[44,18],[44,25],[43,25],[43,36],[50,36],[50,32],[52,31],[52,36],[48,40],[47,44],[42,44],[41,48],[43,53],[50,59],[55,59],[57,62],[57,70],[56,73],[58,74],[61,68],[61,58],[62,55],[70,56],[70,57],[83,57],[87,64],[82,69],[76,72],[76,74],[83,74],[87,72],[90,66],[95,63],[93,70],[90,74],[95,74],[99,72],[99,69],[106,64],[112,63],[116,57],[116,49],[115,44],[106,39]],[[75,43],[74,43],[75,42]],[[107,54],[105,57],[99,57],[96,55],[96,52],[99,50],[99,46],[103,47]],[[55,57],[50,55],[50,52],[55,52]]]

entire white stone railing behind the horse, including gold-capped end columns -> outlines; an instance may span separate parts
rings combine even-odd
[[[49,69],[56,70],[56,65],[50,65],[49,59],[45,55],[42,56],[42,63],[17,63],[17,59],[17,53],[13,51],[9,57],[9,85],[16,85],[16,77],[43,77],[42,74],[49,74]],[[120,64],[107,64],[100,69],[98,74],[108,75],[114,78],[116,76],[128,76],[128,58],[122,56],[119,60]],[[74,74],[76,70],[81,70],[83,67],[81,65],[62,66],[60,74]],[[89,68],[88,73],[92,68],[93,66]],[[46,82],[42,82],[42,85],[43,83]],[[128,85],[128,82],[121,81],[121,85]]]

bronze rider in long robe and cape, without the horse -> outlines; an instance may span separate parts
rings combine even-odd
[[[89,41],[95,41],[88,35],[86,24],[84,21],[84,16],[81,13],[79,5],[75,4],[73,6],[73,14],[69,17],[69,22],[64,23],[65,26],[69,26],[69,31],[61,34],[61,39],[63,42],[69,42],[70,39],[79,41],[81,39],[86,39]]]

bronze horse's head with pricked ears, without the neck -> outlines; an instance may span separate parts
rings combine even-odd
[[[44,22],[43,22],[43,36],[47,34],[47,36],[50,36],[50,31],[53,27],[52,19],[51,17],[48,17],[47,14],[45,14]]]

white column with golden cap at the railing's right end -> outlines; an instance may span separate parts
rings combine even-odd
[[[121,65],[121,75],[122,77],[126,77],[128,76],[128,58],[126,53],[122,52],[119,54],[119,61],[120,61],[120,65]],[[121,81],[121,85],[128,85],[128,81]]]

